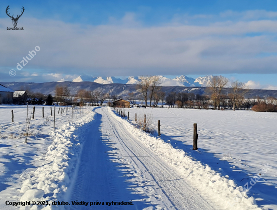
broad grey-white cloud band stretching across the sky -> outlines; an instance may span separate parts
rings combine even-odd
[[[0,19],[0,63],[16,68],[39,46],[28,68],[46,69],[52,79],[78,72],[94,76],[276,72],[276,56],[260,56],[277,52],[274,20],[143,27],[127,13],[114,21],[84,26],[25,18],[19,23],[24,31],[17,33],[6,30],[9,19]],[[262,35],[247,36],[257,32]]]

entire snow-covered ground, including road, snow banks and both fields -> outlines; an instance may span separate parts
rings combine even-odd
[[[44,111],[42,118],[36,106],[24,144],[26,106],[0,106],[0,209],[277,209],[275,114],[131,108],[127,121],[90,107],[77,108],[73,120],[71,110],[56,115],[53,129]],[[135,113],[152,114],[156,129],[160,120],[161,137],[137,129]]]

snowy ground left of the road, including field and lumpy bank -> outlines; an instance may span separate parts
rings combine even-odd
[[[29,118],[32,108],[29,106]],[[11,206],[6,201],[54,200],[67,191],[81,152],[82,131],[93,120],[92,108],[58,113],[55,130],[50,107],[36,106],[25,144],[27,106],[0,106],[0,208],[30,209],[30,205]],[[11,122],[14,111],[14,123]],[[52,107],[54,113],[54,107]],[[47,117],[47,120],[46,120]],[[72,120],[73,117],[73,120]],[[37,209],[34,206],[32,209]],[[51,206],[49,206],[51,207]],[[39,209],[39,208],[38,208]]]

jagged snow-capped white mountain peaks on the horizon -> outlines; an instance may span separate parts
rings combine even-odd
[[[159,76],[161,80],[161,86],[186,86],[186,87],[205,87],[207,83],[213,78],[212,75],[206,75],[203,77],[198,77],[196,79],[182,75],[180,77],[176,76],[174,79],[167,78],[165,76]],[[126,79],[115,78],[113,76],[109,76],[106,78],[93,77],[90,75],[80,75],[77,78],[64,78],[59,80],[58,82],[64,81],[73,81],[73,82],[83,82],[83,81],[91,81],[99,84],[111,84],[111,83],[119,83],[119,84],[138,84],[140,83],[140,79],[137,76],[129,76]]]

